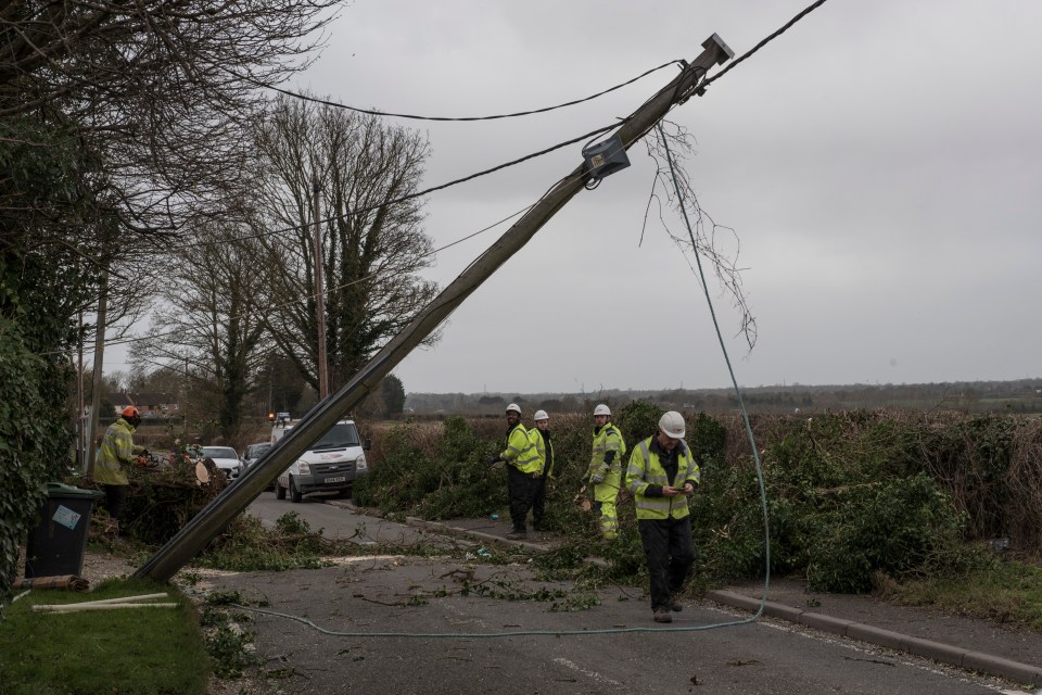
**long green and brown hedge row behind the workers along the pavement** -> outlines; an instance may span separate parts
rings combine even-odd
[[[644,402],[622,408],[615,422],[631,448],[656,431],[660,414]],[[704,414],[686,419],[703,477],[690,500],[700,581],[761,576],[764,519],[744,421]],[[568,415],[550,427],[558,477],[546,522],[580,543],[597,536],[594,519],[573,504],[588,463],[589,425],[587,417]],[[876,572],[961,572],[987,555],[968,542],[1005,539],[1024,553],[1042,546],[1042,425],[1034,419],[859,410],[760,416],[752,429],[773,572],[802,574],[814,589],[861,592],[872,587]],[[506,477],[483,459],[500,447],[504,432],[501,422],[458,417],[378,431],[373,470],[356,486],[355,500],[425,518],[501,511]],[[620,522],[619,571],[640,571],[625,493]]]

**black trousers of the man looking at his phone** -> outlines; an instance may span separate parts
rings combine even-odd
[[[651,610],[669,610],[695,563],[691,518],[638,519],[637,529],[651,577]]]

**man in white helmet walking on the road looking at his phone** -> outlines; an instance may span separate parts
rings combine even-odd
[[[656,622],[673,622],[683,606],[676,595],[695,563],[687,496],[701,479],[698,464],[684,441],[684,416],[670,410],[659,419],[659,432],[633,447],[626,486],[637,509],[637,529],[651,579]]]

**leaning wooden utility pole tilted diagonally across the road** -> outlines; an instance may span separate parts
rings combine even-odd
[[[624,148],[628,149],[653,128],[674,104],[690,97],[696,91],[699,80],[711,67],[734,58],[732,50],[715,34],[702,43],[702,48],[704,50],[701,54],[685,66],[676,78],[625,119],[615,134]],[[417,314],[409,325],[385,344],[340,391],[312,408],[277,446],[185,525],[177,535],[135,572],[135,576],[157,581],[169,580],[271,484],[279,473],[300,458],[313,442],[325,434],[366,395],[379,388],[380,380],[434,332],[463,300],[582,190],[588,178],[584,163],[561,179],[459,277],[442,290],[441,294]]]

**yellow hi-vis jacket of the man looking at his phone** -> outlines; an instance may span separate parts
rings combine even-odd
[[[637,508],[637,519],[683,519],[687,516],[687,495],[675,497],[649,497],[649,485],[669,485],[683,488],[686,483],[697,485],[702,479],[701,470],[695,463],[687,442],[676,443],[681,451],[676,454],[676,478],[670,481],[665,468],[659,463],[659,455],[651,448],[653,437],[649,437],[633,448],[630,467],[626,469],[626,486],[633,493]]]

